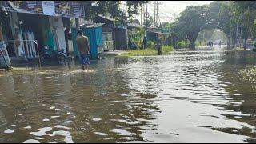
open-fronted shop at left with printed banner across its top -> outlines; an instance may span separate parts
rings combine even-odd
[[[4,27],[0,38],[6,42],[10,57],[37,58],[36,43],[39,50],[47,46],[50,52],[73,54],[72,33],[78,29],[78,18],[84,18],[86,2],[2,1],[0,5]]]

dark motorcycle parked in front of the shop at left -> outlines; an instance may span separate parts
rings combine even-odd
[[[64,50],[54,50],[50,54],[48,47],[44,46],[41,49],[40,58],[41,58],[42,63],[44,63],[46,61],[56,61],[57,60],[58,64],[63,64],[64,62],[66,62],[66,53],[64,52]]]

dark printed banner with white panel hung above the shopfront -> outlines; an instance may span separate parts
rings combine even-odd
[[[66,18],[84,17],[82,2],[72,1],[2,1],[1,10]]]

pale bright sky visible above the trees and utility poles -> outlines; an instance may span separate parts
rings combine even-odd
[[[173,22],[173,17],[178,16],[183,10],[186,9],[186,6],[202,6],[205,4],[210,4],[214,1],[158,1],[162,4],[158,5],[158,14],[160,22]],[[148,11],[150,16],[154,17],[154,1],[150,1],[148,4]],[[174,14],[175,13],[175,14]],[[136,16],[139,20],[140,16]]]

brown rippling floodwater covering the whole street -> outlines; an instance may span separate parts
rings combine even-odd
[[[0,142],[255,142],[250,51],[222,47],[0,72]]]

